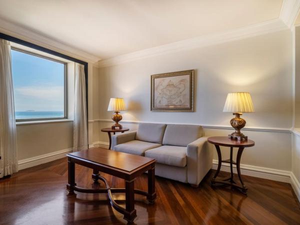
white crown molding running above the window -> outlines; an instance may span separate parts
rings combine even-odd
[[[3,19],[0,19],[0,32],[90,63],[95,63],[100,60],[100,58],[97,56],[70,47],[56,40],[52,40],[48,37],[45,37],[41,34],[25,29]]]

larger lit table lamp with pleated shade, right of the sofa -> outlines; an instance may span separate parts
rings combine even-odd
[[[247,136],[240,132],[240,129],[246,124],[246,121],[243,118],[240,118],[240,115],[242,115],[242,112],[254,112],[250,93],[228,93],[223,112],[233,112],[233,115],[235,115],[235,117],[230,120],[230,124],[235,131],[231,134],[228,134],[228,138],[247,140]]]

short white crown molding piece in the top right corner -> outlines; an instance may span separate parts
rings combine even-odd
[[[293,25],[300,9],[300,0],[283,0],[279,19],[289,28]]]

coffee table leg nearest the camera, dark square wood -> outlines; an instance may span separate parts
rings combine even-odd
[[[136,217],[136,210],[134,209],[134,179],[125,180],[125,189],[126,210],[124,211],[124,219],[132,222]]]

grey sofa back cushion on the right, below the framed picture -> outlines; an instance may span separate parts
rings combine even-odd
[[[203,128],[200,125],[167,124],[162,144],[185,147],[202,135]]]

